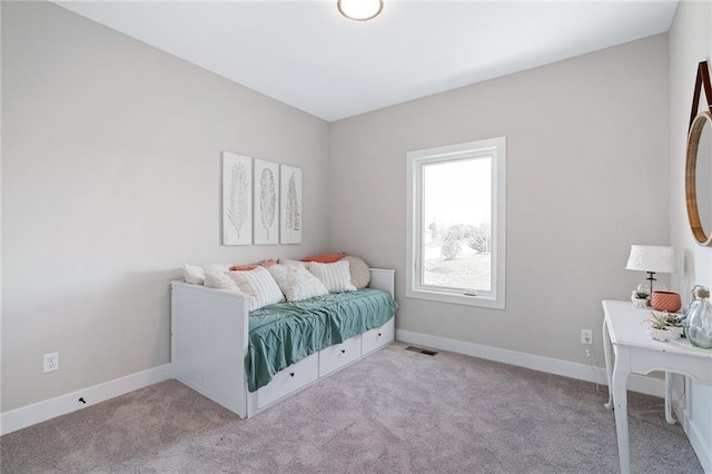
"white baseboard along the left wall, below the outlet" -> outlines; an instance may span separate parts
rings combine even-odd
[[[44,402],[38,402],[32,405],[12,409],[0,415],[1,434],[12,433],[169,378],[170,364],[166,364],[92,387],[60,395]],[[87,403],[82,404],[78,402],[79,398],[83,398]]]

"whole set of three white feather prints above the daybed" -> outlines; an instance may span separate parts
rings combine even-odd
[[[222,245],[301,244],[301,169],[222,151]]]

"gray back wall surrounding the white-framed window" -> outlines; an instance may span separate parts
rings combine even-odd
[[[603,363],[601,299],[630,297],[631,244],[668,244],[668,36],[332,124],[329,246],[405,275],[406,151],[507,138],[506,309],[405,297],[397,327]]]

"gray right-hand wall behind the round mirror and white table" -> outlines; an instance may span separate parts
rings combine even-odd
[[[680,2],[670,29],[670,190],[671,239],[684,254],[684,270],[674,275],[676,292],[688,296],[695,284],[712,287],[712,248],[700,247],[690,231],[685,207],[685,144],[695,73],[700,61],[712,59],[712,4]],[[704,110],[704,105],[699,108]],[[705,131],[709,134],[709,130]],[[690,414],[712,453],[712,387],[693,384]],[[712,460],[712,454],[708,454]]]

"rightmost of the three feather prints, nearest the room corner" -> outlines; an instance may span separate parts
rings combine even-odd
[[[279,243],[301,244],[301,168],[279,167]]]

